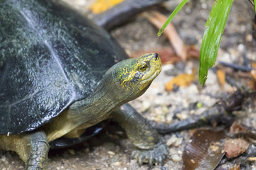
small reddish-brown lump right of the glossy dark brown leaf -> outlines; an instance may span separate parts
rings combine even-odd
[[[242,139],[227,139],[225,140],[225,153],[226,157],[238,157],[240,154],[245,152],[245,150],[249,147],[249,143]]]

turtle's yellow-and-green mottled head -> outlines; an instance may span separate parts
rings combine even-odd
[[[139,58],[123,60],[108,72],[112,72],[115,90],[119,90],[119,94],[130,101],[144,94],[149,88],[161,72],[161,60],[156,53],[145,54]]]

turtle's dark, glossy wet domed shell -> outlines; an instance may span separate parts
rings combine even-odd
[[[49,0],[0,1],[0,134],[48,123],[127,58],[102,28]]]

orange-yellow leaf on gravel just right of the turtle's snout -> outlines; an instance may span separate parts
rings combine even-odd
[[[168,81],[165,85],[166,91],[172,91],[174,86],[189,86],[196,79],[196,69],[193,69],[192,74],[179,74],[174,79]]]

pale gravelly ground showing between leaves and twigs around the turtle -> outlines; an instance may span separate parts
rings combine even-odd
[[[79,0],[72,4],[78,4],[75,8],[85,10],[84,6],[87,6],[87,3],[91,1]],[[212,4],[213,1],[189,1],[174,18],[174,26],[187,45],[195,45],[197,49],[200,49],[204,26]],[[256,61],[255,41],[252,40],[252,13],[253,8],[248,1],[234,1],[220,45],[218,60],[240,63],[242,54],[245,54],[250,60]],[[137,52],[137,50],[170,46],[164,35],[156,40],[156,33],[157,29],[143,16],[111,32],[128,54]],[[191,73],[194,67],[198,68],[198,60],[164,65],[161,74],[154,80],[148,91],[130,103],[150,120],[171,123],[177,118],[201,114],[220,98],[225,98],[235,91],[235,88],[229,84],[221,87],[213,70],[209,71],[208,81],[203,88],[196,79],[190,86],[179,88],[175,92],[164,90],[167,81],[178,74]],[[203,107],[196,109],[196,103],[202,103]],[[250,111],[252,112],[253,109]],[[250,118],[255,118],[255,116]],[[139,166],[134,159],[130,158],[132,145],[127,140],[124,131],[117,125],[110,124],[99,135],[80,145],[51,150],[48,169],[181,169],[183,147],[190,135],[188,131],[164,135],[164,141],[169,145],[170,152],[164,166],[150,167],[147,164]],[[247,167],[256,169],[255,162],[248,162]],[[0,152],[0,169],[23,168],[24,164],[17,154]]]

